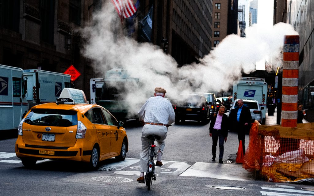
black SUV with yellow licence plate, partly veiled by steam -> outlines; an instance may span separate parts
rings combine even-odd
[[[174,100],[173,109],[175,110],[175,123],[178,124],[185,120],[196,120],[206,124],[209,122],[209,105],[203,95],[182,94]]]

